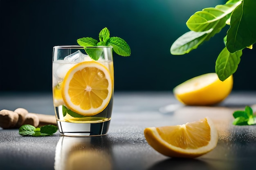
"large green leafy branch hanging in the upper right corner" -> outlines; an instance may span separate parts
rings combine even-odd
[[[255,6],[255,0],[228,0],[226,4],[195,12],[186,22],[190,31],[173,42],[171,54],[189,53],[230,25],[224,38],[225,47],[215,65],[219,79],[224,81],[236,72],[242,50],[256,42]]]

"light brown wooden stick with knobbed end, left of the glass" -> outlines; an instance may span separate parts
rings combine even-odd
[[[29,113],[25,108],[17,108],[14,111],[6,109],[0,111],[0,127],[4,129],[20,128],[24,124],[35,127],[48,124],[56,126],[56,117],[54,115]]]

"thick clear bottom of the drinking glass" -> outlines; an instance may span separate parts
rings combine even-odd
[[[65,136],[99,136],[106,135],[110,120],[98,123],[72,123],[57,120],[58,130]]]

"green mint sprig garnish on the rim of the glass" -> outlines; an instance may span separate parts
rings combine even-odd
[[[108,28],[103,28],[99,33],[99,42],[93,38],[79,38],[77,43],[80,46],[112,46],[115,53],[121,56],[130,56],[131,50],[127,42],[119,37],[110,37],[110,31]],[[102,51],[100,49],[86,49],[86,53],[93,59],[98,60]]]

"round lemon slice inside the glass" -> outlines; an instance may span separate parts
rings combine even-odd
[[[94,61],[76,64],[65,75],[61,94],[70,110],[85,116],[97,115],[112,96],[110,72]]]

